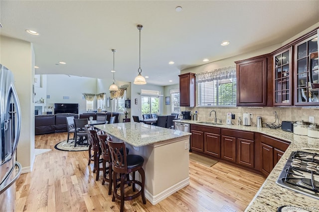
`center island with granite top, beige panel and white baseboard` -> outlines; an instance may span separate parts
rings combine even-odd
[[[189,185],[191,133],[138,122],[94,125],[144,158],[145,197],[153,204]],[[139,177],[139,175],[137,175]]]

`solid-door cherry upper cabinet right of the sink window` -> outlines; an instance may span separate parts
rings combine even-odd
[[[271,96],[272,105],[273,94],[267,91],[267,84],[271,81],[272,72],[268,72],[272,58],[269,54],[261,55],[246,60],[236,61],[237,76],[237,106],[270,106],[267,99]],[[272,67],[272,66],[271,66]],[[270,79],[268,79],[270,78]]]

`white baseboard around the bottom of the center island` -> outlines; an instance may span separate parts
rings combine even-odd
[[[178,190],[180,190],[188,185],[189,185],[189,177],[186,178],[185,180],[182,180],[179,183],[171,186],[170,188],[162,191],[160,194],[155,195],[155,196],[153,196],[152,194],[150,194],[150,192],[145,190],[145,197],[146,197],[146,199],[148,199],[150,201],[150,203],[152,203],[152,205],[156,205],[160,201],[164,200],[166,197],[174,194]]]

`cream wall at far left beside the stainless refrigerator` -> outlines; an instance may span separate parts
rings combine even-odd
[[[22,172],[32,170],[34,160],[34,51],[26,41],[0,36],[0,63],[13,72],[15,89],[21,106],[21,131],[17,146],[17,161]]]

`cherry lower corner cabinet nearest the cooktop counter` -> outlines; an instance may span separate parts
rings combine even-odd
[[[284,152],[289,146],[289,142],[282,141],[267,135],[260,135],[260,157],[261,172],[268,176]]]

